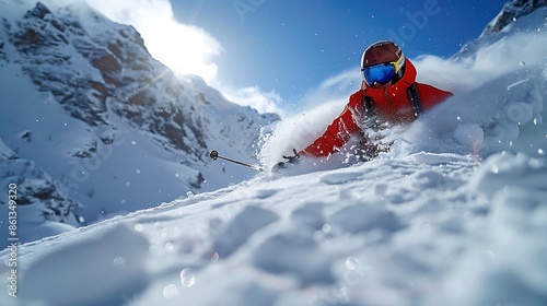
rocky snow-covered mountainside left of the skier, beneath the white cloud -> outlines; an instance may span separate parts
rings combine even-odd
[[[277,115],[175,75],[135,28],[82,1],[0,1],[0,139],[14,152],[0,155],[0,180],[5,192],[19,183],[33,199],[23,204],[39,205],[45,220],[78,226],[253,174],[211,169],[208,153],[256,162],[260,127]]]

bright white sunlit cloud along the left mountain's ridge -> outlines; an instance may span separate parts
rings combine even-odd
[[[173,71],[199,75],[230,101],[259,113],[283,113],[278,93],[254,85],[235,89],[218,80],[213,59],[224,51],[221,44],[203,28],[178,23],[168,0],[85,1],[112,21],[135,26],[150,54]]]

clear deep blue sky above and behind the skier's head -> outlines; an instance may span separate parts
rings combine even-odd
[[[450,57],[507,1],[171,2],[178,22],[203,28],[222,46],[213,59],[218,79],[275,91],[290,105],[329,76],[359,73],[363,49],[380,39],[395,38],[410,58]]]

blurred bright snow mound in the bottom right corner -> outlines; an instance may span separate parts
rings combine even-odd
[[[545,305],[546,178],[546,160],[524,154],[497,154],[477,169],[469,186],[490,211],[482,235],[492,239],[486,246],[476,242],[465,251],[454,273],[441,284],[446,294],[437,294],[434,303]]]

